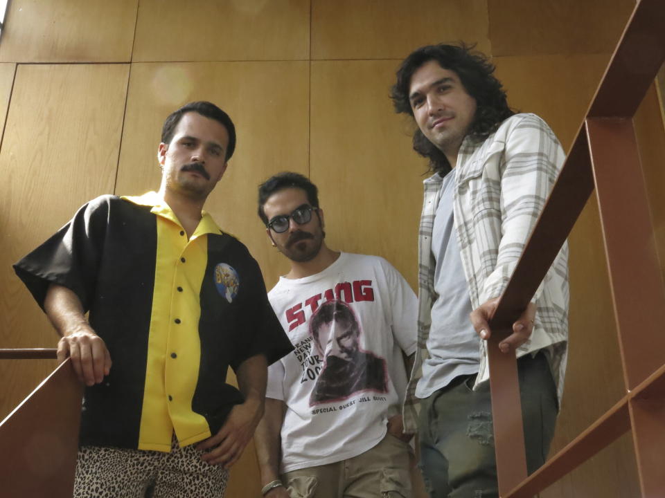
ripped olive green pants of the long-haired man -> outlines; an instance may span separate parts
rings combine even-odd
[[[558,401],[544,353],[517,360],[526,466],[531,474],[547,458]],[[432,498],[499,496],[490,385],[477,391],[476,376],[459,376],[421,401],[420,470]]]

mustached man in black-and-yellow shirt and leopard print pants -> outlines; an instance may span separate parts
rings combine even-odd
[[[256,261],[203,210],[235,147],[227,113],[186,104],[159,192],[90,201],[15,265],[87,386],[75,497],[222,497],[263,415],[267,364],[293,347]]]

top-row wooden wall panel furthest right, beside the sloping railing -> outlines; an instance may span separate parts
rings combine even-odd
[[[635,0],[488,0],[495,57],[612,53]]]

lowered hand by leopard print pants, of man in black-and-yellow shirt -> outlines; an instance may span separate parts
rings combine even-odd
[[[245,451],[261,416],[263,404],[259,401],[248,399],[234,406],[220,431],[197,445],[199,450],[213,448],[203,454],[201,459],[211,465],[221,464],[226,469],[231,468]]]

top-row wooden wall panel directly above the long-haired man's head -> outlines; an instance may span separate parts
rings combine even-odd
[[[312,0],[312,59],[398,59],[457,40],[490,53],[487,0]]]

